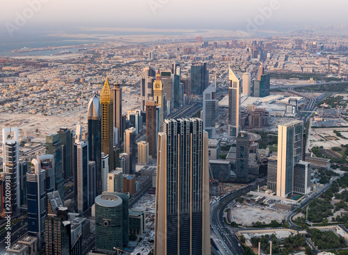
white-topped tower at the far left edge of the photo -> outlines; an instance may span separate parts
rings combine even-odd
[[[3,172],[10,174],[11,211],[19,207],[19,142],[18,128],[2,129]]]

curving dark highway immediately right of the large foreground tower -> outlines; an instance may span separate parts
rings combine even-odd
[[[265,183],[265,181],[262,181],[262,183]],[[225,211],[226,206],[233,200],[256,188],[257,185],[262,185],[262,183],[254,183],[251,186],[242,188],[242,190],[231,192],[230,195],[210,205],[210,224],[216,236],[224,243],[223,246],[226,247],[225,251],[221,251],[223,254],[244,254],[242,247],[239,247],[239,242],[235,238],[234,233],[223,222],[223,211]]]

